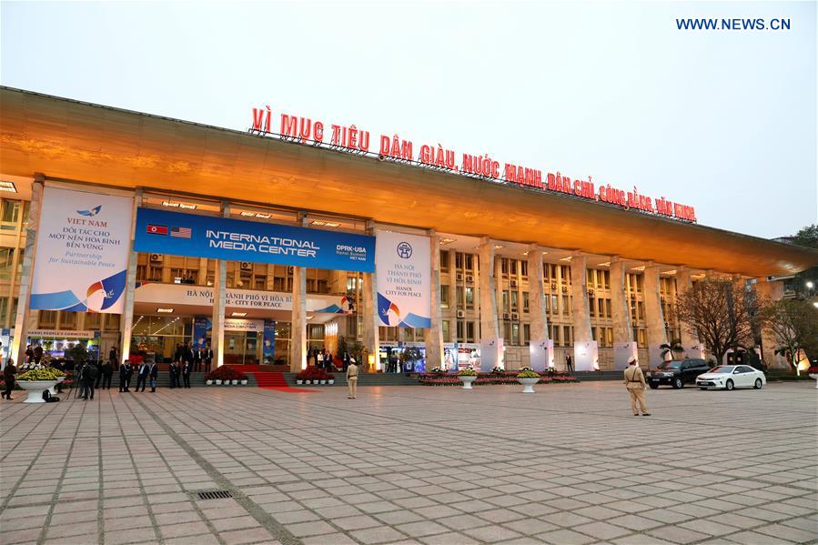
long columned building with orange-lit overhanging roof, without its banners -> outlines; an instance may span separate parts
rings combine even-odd
[[[356,343],[369,371],[406,348],[418,349],[409,362],[416,370],[470,361],[564,368],[569,355],[578,369],[621,368],[631,354],[647,366],[672,339],[703,355],[674,313],[677,295],[698,280],[730,276],[780,298],[777,276],[818,264],[804,248],[579,193],[0,92],[0,328],[13,358],[31,342],[58,354],[84,339],[102,354],[116,345],[156,358],[172,358],[178,343],[210,343],[218,365],[293,370],[315,348],[338,355],[339,344]],[[35,259],[36,235],[50,221],[44,195],[54,190],[132,204],[120,312],[32,308],[35,273],[49,267]],[[140,251],[141,210],[342,237],[428,237],[429,327],[384,325],[378,264],[367,271]],[[186,232],[167,235],[173,242]],[[773,347],[763,349],[774,365]]]

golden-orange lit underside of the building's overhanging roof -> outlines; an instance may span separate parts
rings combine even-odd
[[[750,277],[818,251],[560,194],[0,88],[0,172],[372,218]]]

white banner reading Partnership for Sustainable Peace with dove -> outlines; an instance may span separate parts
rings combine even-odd
[[[30,308],[122,313],[133,206],[45,187]]]

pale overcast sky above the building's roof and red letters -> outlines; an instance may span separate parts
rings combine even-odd
[[[2,2],[0,83],[238,130],[269,105],[758,237],[818,223],[815,2]]]

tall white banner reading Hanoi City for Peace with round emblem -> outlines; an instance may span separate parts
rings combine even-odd
[[[383,326],[429,328],[431,273],[429,237],[378,231],[378,316]]]

